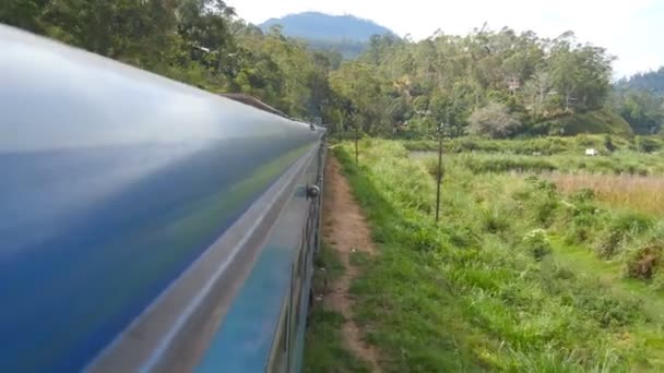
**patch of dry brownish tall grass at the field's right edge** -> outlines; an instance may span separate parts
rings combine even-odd
[[[664,216],[664,177],[661,176],[550,172],[544,177],[565,193],[590,189],[598,201],[615,207]]]

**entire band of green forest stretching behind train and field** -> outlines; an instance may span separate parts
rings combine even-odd
[[[614,57],[572,32],[376,35],[344,60],[278,26],[262,32],[222,0],[9,0],[0,22],[213,93],[252,95],[331,132],[423,139],[443,123],[450,137],[631,135],[661,131],[664,118],[664,71],[614,84]]]

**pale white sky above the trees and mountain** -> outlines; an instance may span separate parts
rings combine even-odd
[[[467,34],[486,22],[493,29],[532,29],[543,37],[573,31],[578,39],[617,57],[616,77],[664,65],[664,0],[227,0],[251,23],[289,13],[353,14],[415,40],[440,28]]]

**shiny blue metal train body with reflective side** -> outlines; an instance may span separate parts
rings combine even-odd
[[[0,25],[0,371],[298,371],[323,134]]]

